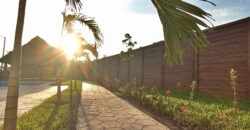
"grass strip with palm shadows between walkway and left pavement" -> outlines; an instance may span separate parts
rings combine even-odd
[[[56,95],[46,99],[40,105],[22,114],[18,118],[17,128],[19,130],[74,130],[82,82],[77,81],[77,88],[72,87],[72,96],[69,88],[62,92],[61,105],[57,105]]]

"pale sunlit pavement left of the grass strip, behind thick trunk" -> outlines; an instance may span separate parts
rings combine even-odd
[[[67,86],[62,86],[61,89],[66,88]],[[56,94],[57,86],[20,86],[19,90],[18,115],[21,115]],[[1,90],[0,94],[0,124],[3,124],[7,89]]]

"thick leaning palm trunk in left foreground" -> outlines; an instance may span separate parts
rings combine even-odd
[[[16,24],[14,50],[11,58],[11,70],[8,81],[8,92],[3,126],[4,130],[16,130],[25,7],[26,0],[20,0]]]

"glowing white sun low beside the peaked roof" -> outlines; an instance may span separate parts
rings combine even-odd
[[[74,53],[78,49],[78,40],[76,37],[71,35],[66,35],[63,37],[62,49],[67,55],[68,59],[72,59]]]

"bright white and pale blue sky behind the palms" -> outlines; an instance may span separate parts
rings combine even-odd
[[[250,0],[211,0],[216,7],[198,0],[185,0],[205,9],[220,25],[250,16]],[[7,37],[6,51],[14,44],[18,0],[0,2],[0,35]],[[100,56],[109,56],[126,50],[122,45],[125,33],[130,33],[136,47],[163,40],[157,12],[151,0],[82,0],[83,13],[95,17],[103,35],[104,45]],[[62,26],[61,12],[64,0],[27,0],[22,44],[39,35],[52,46],[58,46]],[[90,37],[91,35],[85,32]],[[0,37],[0,55],[3,38]]]

